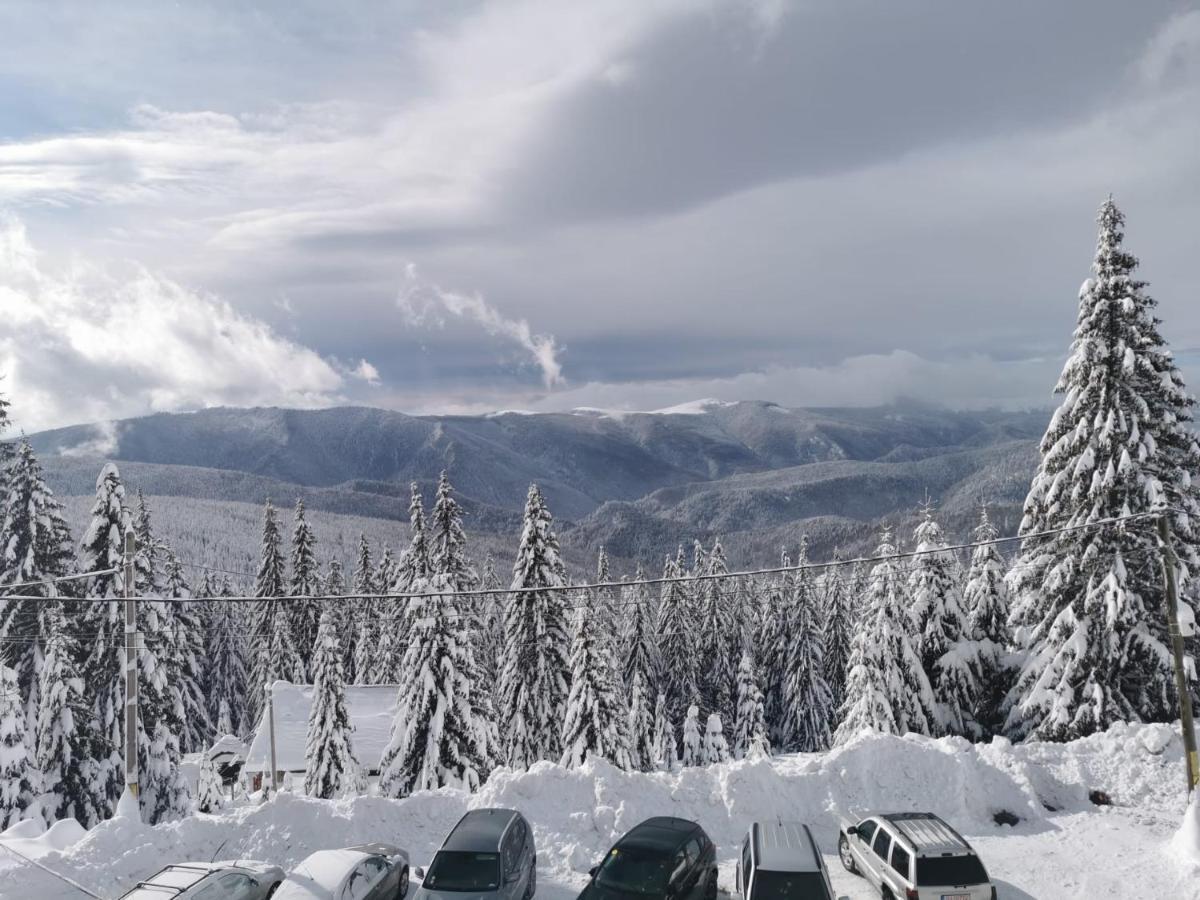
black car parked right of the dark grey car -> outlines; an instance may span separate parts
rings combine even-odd
[[[686,818],[647,818],[592,870],[580,900],[713,900],[716,850]]]

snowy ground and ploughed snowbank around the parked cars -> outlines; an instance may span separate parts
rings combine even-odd
[[[42,853],[46,865],[112,898],[166,862],[242,856],[290,866],[314,850],[371,839],[407,847],[420,865],[463,810],[515,806],[536,832],[538,893],[554,900],[576,895],[587,869],[622,832],[660,814],[704,826],[721,854],[722,882],[732,887],[745,828],[778,815],[814,826],[834,887],[857,900],[872,894],[836,860],[836,811],[928,809],[977,846],[1001,898],[1198,900],[1200,857],[1186,859],[1169,847],[1184,811],[1181,744],[1168,726],[1115,726],[1067,745],[866,736],[829,754],[671,775],[626,774],[605,763],[568,772],[541,763],[529,772],[499,772],[473,797],[438,791],[398,802],[319,802],[283,794],[266,805],[158,828],[114,820],[65,850],[11,836],[23,852]],[[1094,806],[1091,790],[1106,792],[1114,805]],[[1000,810],[1021,822],[995,824]],[[0,900],[80,896],[28,864],[0,858]]]

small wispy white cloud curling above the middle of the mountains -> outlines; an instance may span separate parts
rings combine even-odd
[[[499,310],[491,306],[480,294],[458,294],[431,282],[424,281],[416,274],[416,266],[409,263],[404,269],[404,282],[396,299],[406,323],[410,328],[425,325],[442,326],[445,324],[442,313],[474,322],[487,334],[512,341],[523,348],[538,368],[546,388],[564,384],[563,364],[558,359],[560,348],[553,335],[538,335],[524,319],[506,318]]]

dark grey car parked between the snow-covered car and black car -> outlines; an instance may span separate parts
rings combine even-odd
[[[529,900],[538,890],[533,828],[516,810],[472,810],[415,874],[413,900]]]

